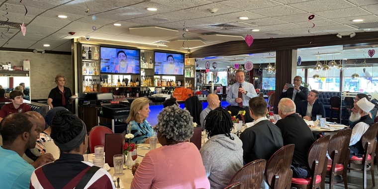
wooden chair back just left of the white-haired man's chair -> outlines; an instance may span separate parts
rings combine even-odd
[[[280,148],[268,161],[265,176],[272,189],[290,188],[292,177],[290,165],[293,154],[294,144],[289,144]]]

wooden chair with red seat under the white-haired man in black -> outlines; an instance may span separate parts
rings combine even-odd
[[[316,140],[310,147],[307,154],[308,165],[311,166],[312,176],[310,178],[291,179],[291,187],[297,189],[318,189],[321,186],[323,174],[325,174],[328,158],[326,156],[329,135]]]

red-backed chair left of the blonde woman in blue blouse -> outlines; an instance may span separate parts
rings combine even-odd
[[[105,152],[105,134],[113,134],[113,131],[104,126],[95,126],[91,129],[88,137],[91,153],[95,153],[95,146],[104,146]]]

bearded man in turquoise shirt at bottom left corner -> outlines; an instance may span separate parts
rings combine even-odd
[[[39,138],[37,124],[26,113],[7,115],[0,123],[0,188],[26,189],[34,167],[22,159],[26,149],[35,147]]]

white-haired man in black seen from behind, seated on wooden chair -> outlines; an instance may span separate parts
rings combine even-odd
[[[315,138],[306,122],[295,113],[295,104],[289,98],[282,98],[278,104],[278,114],[282,119],[276,125],[281,129],[283,146],[294,144],[294,155],[290,169],[293,178],[311,177],[311,169],[307,162],[307,153]]]

